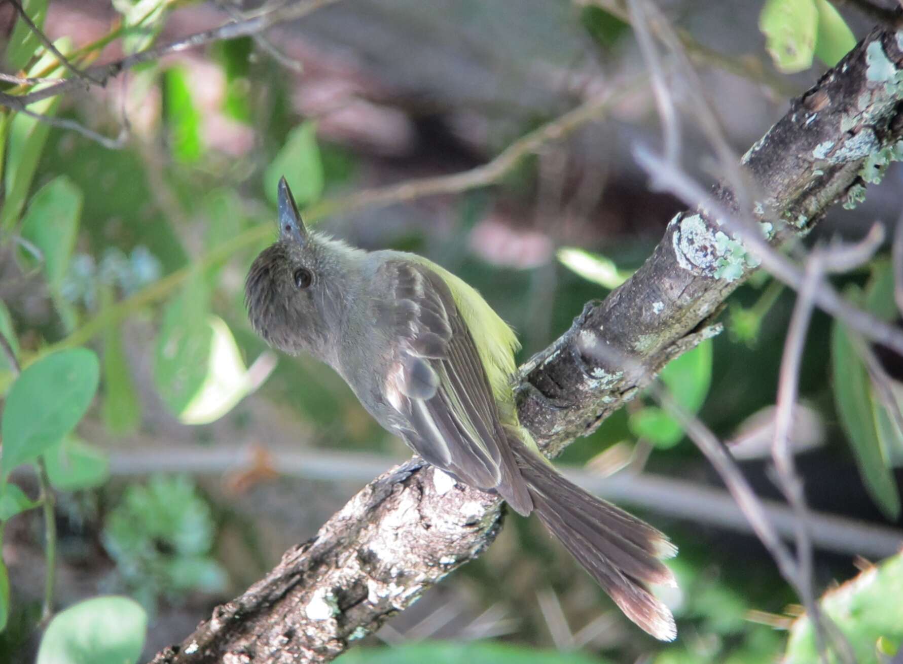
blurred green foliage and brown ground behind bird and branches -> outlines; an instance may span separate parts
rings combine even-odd
[[[30,107],[123,134],[116,149],[3,109],[0,334],[24,369],[16,378],[0,354],[0,662],[77,661],[84,651],[135,661],[181,641],[407,454],[338,377],[305,357],[277,357],[247,324],[243,279],[275,236],[281,175],[318,228],[364,248],[423,253],[477,286],[519,331],[520,360],[648,256],[681,206],[647,192],[630,157],[634,142],[657,145],[658,129],[627,14],[590,0],[517,4],[345,0],[265,37],[182,51],[104,89]],[[260,8],[23,5],[79,67]],[[660,5],[697,45],[725,54],[701,74],[738,154],[784,113],[788,90],[805,89],[870,27],[825,0]],[[0,25],[5,71],[71,75],[12,5],[0,6]],[[738,53],[746,78],[728,73]],[[354,192],[484,164],[625,81],[628,93],[599,122],[498,181],[341,211]],[[2,85],[21,93],[47,83]],[[711,179],[707,158],[688,126],[685,167]],[[858,238],[876,218],[897,219],[900,169],[887,181],[857,210],[832,210],[807,241]],[[845,281],[862,306],[898,318],[886,255]],[[662,375],[767,498],[778,496],[768,432],[792,305],[792,294],[755,276],[731,296],[728,332]],[[815,313],[791,442],[813,508],[868,527],[856,531],[866,533],[861,550],[829,542],[817,551],[824,607],[861,661],[889,660],[903,640],[901,563],[873,566],[894,552],[868,537],[899,526],[893,415],[903,388],[894,383],[890,397],[876,388],[858,343]],[[901,379],[899,358],[876,354]],[[675,420],[643,397],[562,462],[719,485]],[[629,625],[542,528],[509,516],[486,556],[342,661],[815,660],[811,628],[796,620],[765,550],[710,517],[721,503],[677,519],[635,499],[625,506],[680,547],[680,590],[663,592],[678,619],[674,644]],[[865,571],[834,587],[857,566]],[[46,585],[65,611],[42,632]]]

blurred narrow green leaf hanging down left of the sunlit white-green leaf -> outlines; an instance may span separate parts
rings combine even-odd
[[[104,305],[112,304],[111,289],[106,288]],[[141,401],[122,348],[122,331],[107,325],[104,331],[104,399],[101,413],[110,433],[123,435],[135,431],[141,421]]]

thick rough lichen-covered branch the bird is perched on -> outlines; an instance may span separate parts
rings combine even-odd
[[[901,98],[903,33],[876,30],[753,145],[742,163],[772,243],[811,229],[834,203],[859,200],[901,156]],[[717,194],[736,207],[731,192]],[[719,330],[713,315],[755,263],[716,220],[678,214],[634,276],[521,369],[521,422],[548,454],[590,432]],[[479,556],[501,513],[493,497],[405,463],[154,662],[329,661]]]

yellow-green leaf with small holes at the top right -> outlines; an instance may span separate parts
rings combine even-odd
[[[815,0],[767,0],[759,14],[765,48],[778,70],[807,70],[815,54],[818,11]]]

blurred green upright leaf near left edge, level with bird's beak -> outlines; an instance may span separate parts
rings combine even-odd
[[[41,249],[43,273],[55,294],[60,292],[75,249],[82,198],[79,187],[60,175],[33,195],[22,220],[22,237]],[[25,264],[35,262],[21,250],[20,257]]]

